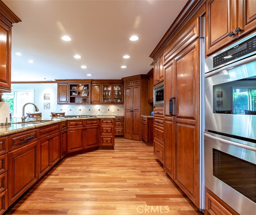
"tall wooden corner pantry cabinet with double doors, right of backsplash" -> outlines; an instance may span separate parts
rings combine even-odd
[[[124,138],[140,141],[141,115],[153,109],[148,103],[148,78],[134,75],[124,80]]]

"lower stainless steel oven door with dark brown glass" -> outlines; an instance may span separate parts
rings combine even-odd
[[[254,214],[256,144],[205,132],[204,158],[205,186],[239,214]]]

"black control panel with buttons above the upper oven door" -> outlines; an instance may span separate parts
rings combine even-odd
[[[256,36],[251,37],[238,45],[234,45],[226,51],[214,56],[213,68],[234,61],[235,59],[248,55],[254,51],[256,51]]]

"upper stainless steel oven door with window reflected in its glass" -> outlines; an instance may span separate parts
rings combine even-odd
[[[205,75],[205,129],[256,139],[256,55]]]

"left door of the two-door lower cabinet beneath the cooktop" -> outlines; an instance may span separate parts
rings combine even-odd
[[[76,152],[84,149],[84,128],[68,129],[68,152]]]

